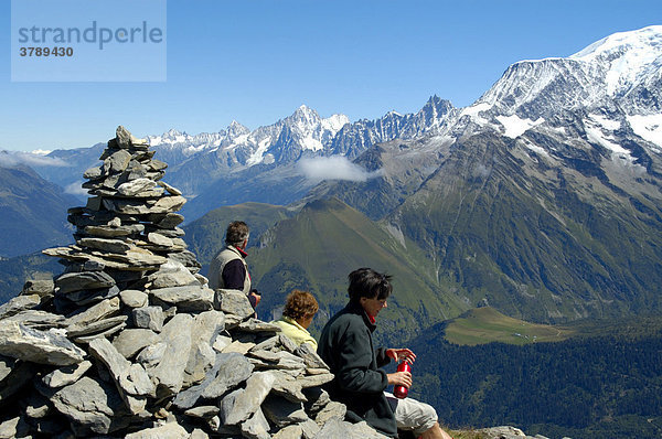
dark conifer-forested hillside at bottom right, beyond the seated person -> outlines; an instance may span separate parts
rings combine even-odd
[[[438,324],[409,343],[418,355],[410,394],[452,426],[514,425],[553,438],[660,438],[662,319],[636,323],[583,322],[568,328],[575,335],[567,341],[521,346],[451,344]]]

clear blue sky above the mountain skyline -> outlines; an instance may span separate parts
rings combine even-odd
[[[417,111],[435,94],[463,107],[514,62],[662,24],[659,0],[168,0],[166,82],[28,83],[11,82],[10,12],[2,1],[0,150],[24,151],[89,147],[118,125],[254,129],[301,104],[350,120]]]

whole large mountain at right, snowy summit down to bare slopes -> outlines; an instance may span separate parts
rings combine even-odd
[[[474,105],[355,162],[380,178],[325,182],[419,245],[468,304],[559,321],[659,309],[662,28],[568,58],[525,61]]]

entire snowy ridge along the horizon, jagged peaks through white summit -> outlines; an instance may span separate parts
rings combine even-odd
[[[638,170],[650,163],[644,154],[662,154],[661,62],[662,26],[650,26],[607,36],[569,57],[515,63],[465,108],[433,96],[416,113],[392,110],[377,119],[350,121],[341,114],[322,118],[302,105],[290,116],[253,130],[233,121],[218,132],[192,136],[173,129],[149,136],[149,141],[159,160],[169,164],[171,183],[191,200],[188,206],[205,191],[225,193],[238,181],[270,184],[274,189],[274,182],[291,179],[278,191],[258,193],[259,188],[245,186],[241,192],[247,200],[289,203],[311,188],[296,167],[302,158],[354,160],[378,143],[420,139],[416,144],[425,144],[425,151],[403,151],[418,163],[434,153],[434,144],[447,146],[480,132],[517,140],[538,158],[554,156],[554,142],[581,139],[577,143],[584,150],[581,154],[592,153],[591,146],[599,146],[605,159]],[[554,141],[538,143],[526,139],[531,136]],[[438,140],[423,141],[430,138]],[[632,142],[637,148],[628,146]],[[42,167],[39,171],[44,178],[64,188],[79,188],[79,175],[96,164],[98,152],[56,150],[46,157],[58,158],[71,167]],[[424,162],[431,165],[429,160]],[[366,170],[384,165],[375,161]],[[216,183],[218,186],[214,186]],[[241,202],[238,196],[220,196],[205,203]]]

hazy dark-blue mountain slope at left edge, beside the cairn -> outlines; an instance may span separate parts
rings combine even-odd
[[[66,211],[77,204],[30,168],[0,168],[0,255],[25,255],[71,243]]]

